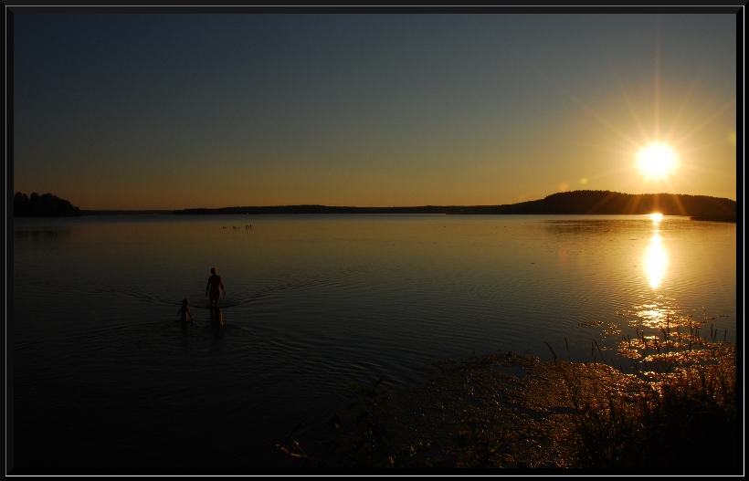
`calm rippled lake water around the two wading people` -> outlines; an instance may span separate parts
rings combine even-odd
[[[16,219],[16,467],[274,467],[344,387],[635,329],[736,340],[736,225],[649,216]],[[246,225],[252,225],[251,229]],[[237,228],[233,228],[236,226]],[[210,268],[224,278],[210,321]],[[194,324],[177,310],[190,299]],[[601,321],[600,325],[593,321]],[[11,330],[12,329],[12,330]],[[688,329],[687,329],[688,330]],[[569,355],[565,348],[569,345]],[[634,361],[617,359],[617,365]]]

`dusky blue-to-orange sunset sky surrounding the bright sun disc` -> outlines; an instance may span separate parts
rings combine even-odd
[[[13,190],[81,209],[735,200],[743,15],[16,14]],[[636,165],[656,142],[662,177]]]

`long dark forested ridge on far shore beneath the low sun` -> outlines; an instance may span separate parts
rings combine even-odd
[[[174,214],[651,214],[735,216],[736,201],[708,195],[681,193],[617,193],[574,191],[553,193],[543,199],[502,205],[420,207],[336,207],[276,205],[185,209]]]

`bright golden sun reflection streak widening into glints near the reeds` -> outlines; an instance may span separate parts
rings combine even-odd
[[[717,317],[706,308],[703,307],[702,312],[687,308],[677,299],[681,297],[683,252],[678,242],[673,242],[677,240],[670,225],[674,219],[649,214],[644,220],[647,224],[642,226],[649,235],[643,240],[649,242],[639,246],[635,256],[642,256],[641,260],[633,263],[642,269],[640,276],[644,274],[644,277],[638,276],[633,289],[639,291],[638,300],[631,308],[617,310],[617,316],[624,318],[619,318],[619,322],[605,323],[597,319],[580,322],[580,325],[598,328],[597,341],[594,338],[590,343],[591,358],[648,381],[666,379],[666,376],[677,375],[676,372],[681,375],[695,366],[726,364],[730,369],[734,365],[730,358],[735,344],[727,341],[728,329],[723,325],[717,327],[717,322],[713,325],[712,320]],[[674,250],[669,252],[667,247]],[[673,294],[676,298],[671,297]],[[686,302],[689,304],[688,299]],[[616,353],[612,355],[607,350]]]

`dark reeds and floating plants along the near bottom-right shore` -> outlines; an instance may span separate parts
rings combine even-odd
[[[735,472],[744,453],[735,344],[716,341],[717,331],[712,341],[695,329],[663,336],[622,342],[621,353],[647,369],[636,374],[601,362],[601,350],[593,362],[573,363],[549,346],[554,361],[505,352],[453,362],[416,391],[390,390],[382,377],[351,383],[351,415],[333,416],[325,449],[276,446],[323,468]],[[502,374],[510,364],[527,372]]]

